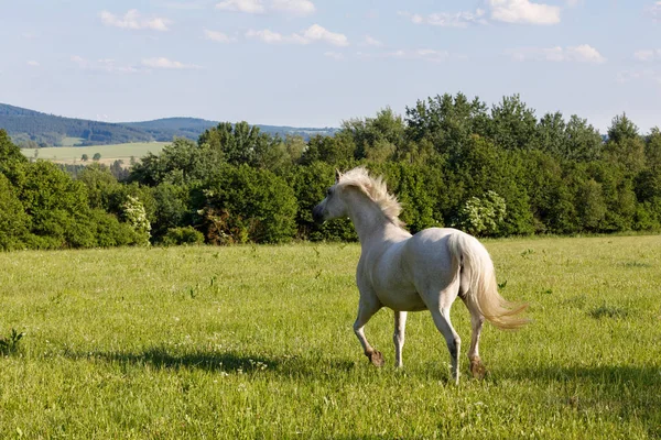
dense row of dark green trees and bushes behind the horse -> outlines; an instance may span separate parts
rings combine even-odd
[[[128,173],[72,177],[30,163],[0,131],[0,248],[356,240],[311,210],[334,170],[383,175],[412,232],[481,237],[661,230],[661,132],[626,114],[602,135],[585,119],[537,118],[519,96],[488,108],[462,94],[344,121],[333,136],[271,135],[219,123],[176,139]],[[119,178],[118,178],[119,177]]]

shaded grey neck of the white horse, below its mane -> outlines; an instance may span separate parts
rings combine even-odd
[[[382,241],[393,232],[398,235],[401,233],[408,234],[407,231],[392,223],[381,208],[370,200],[367,196],[355,194],[349,202],[349,218],[356,228],[360,243],[369,245],[372,241]]]

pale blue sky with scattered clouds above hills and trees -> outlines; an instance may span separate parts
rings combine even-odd
[[[0,0],[0,102],[337,127],[444,92],[661,125],[657,0]]]

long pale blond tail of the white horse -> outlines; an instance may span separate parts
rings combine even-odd
[[[494,263],[476,238],[458,231],[449,235],[447,245],[453,260],[462,267],[464,294],[473,297],[489,322],[500,329],[518,329],[529,322],[525,318],[517,317],[528,307],[527,304],[510,302],[498,293]]]

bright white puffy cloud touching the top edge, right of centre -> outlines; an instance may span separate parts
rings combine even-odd
[[[556,24],[560,23],[560,8],[530,0],[487,0],[491,20],[506,23]]]

